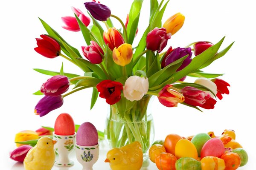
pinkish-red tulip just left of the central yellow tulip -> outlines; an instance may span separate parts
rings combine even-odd
[[[91,45],[86,47],[82,46],[84,57],[86,57],[93,64],[99,64],[102,62],[101,54],[103,55],[104,52],[96,42],[90,41],[90,43]]]

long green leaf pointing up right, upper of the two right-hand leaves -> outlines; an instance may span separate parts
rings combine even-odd
[[[225,38],[225,37],[224,37]],[[211,46],[203,53],[199,54],[198,56],[194,57],[191,61],[191,63],[183,68],[182,70],[176,72],[172,75],[173,82],[176,82],[177,80],[181,79],[182,77],[185,77],[186,75],[192,73],[195,70],[198,70],[204,63],[206,63],[209,59],[215,56],[218,49],[220,48],[222,42],[224,41],[224,38],[222,38],[217,44]]]

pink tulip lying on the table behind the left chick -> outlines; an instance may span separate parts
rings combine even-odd
[[[10,158],[15,161],[23,162],[26,157],[26,154],[29,152],[31,148],[32,146],[27,144],[20,146],[13,150],[12,153],[10,153]]]

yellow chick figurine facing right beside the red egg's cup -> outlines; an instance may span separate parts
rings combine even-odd
[[[53,145],[56,142],[47,136],[40,138],[24,159],[25,170],[51,170],[55,161]]]

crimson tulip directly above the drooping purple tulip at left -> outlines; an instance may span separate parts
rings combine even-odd
[[[42,86],[40,91],[46,96],[59,96],[64,94],[70,86],[67,76],[56,75],[49,78]]]

